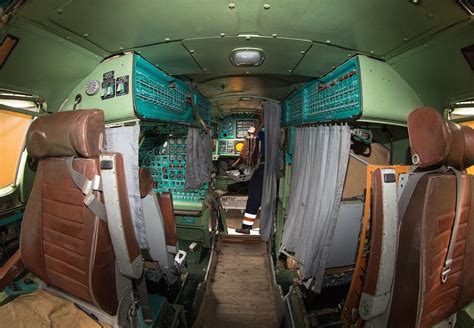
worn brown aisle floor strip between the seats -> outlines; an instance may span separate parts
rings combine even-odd
[[[276,327],[271,264],[259,236],[222,236],[195,327]]]

